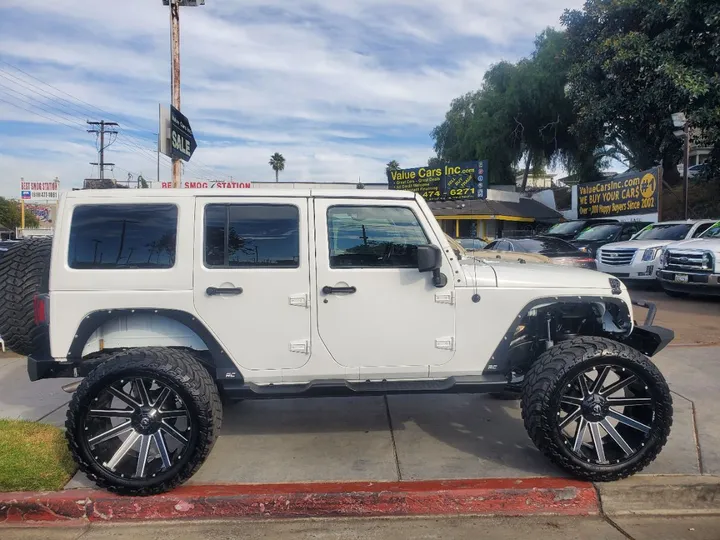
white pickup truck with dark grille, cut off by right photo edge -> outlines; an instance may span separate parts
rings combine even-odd
[[[720,295],[720,221],[700,238],[667,246],[658,279],[670,296]]]

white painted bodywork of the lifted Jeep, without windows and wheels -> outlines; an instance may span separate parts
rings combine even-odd
[[[76,209],[97,205],[98,219],[108,219],[108,205],[127,202],[148,204],[154,212],[167,205],[177,209],[180,219],[172,267],[72,268],[73,252],[68,246]],[[274,207],[294,212],[298,245],[293,256],[298,260],[287,267],[261,261],[245,267],[208,264],[207,212],[227,205],[231,211],[233,205],[240,205],[258,212]],[[333,265],[328,212],[354,206],[416,219],[427,242],[442,248],[441,272],[448,276],[448,284],[434,287],[417,268]],[[83,344],[81,357],[129,346],[204,348],[197,332],[145,311],[161,307],[200,321],[237,368],[222,376],[242,376],[247,383],[441,378],[482,374],[493,364],[493,351],[518,313],[537,299],[558,294],[609,295],[631,309],[627,290],[613,295],[608,277],[600,273],[554,267],[528,272],[517,264],[474,260],[463,264],[423,199],[407,192],[252,190],[242,196],[223,196],[152,190],[123,193],[118,200],[116,192],[77,191],[61,201],[59,214],[50,282],[51,355],[59,361],[77,356],[73,345],[83,321],[108,311],[122,316],[94,330]],[[257,220],[262,220],[261,214]],[[266,241],[267,249],[272,249],[272,242]],[[95,266],[100,267],[101,257],[107,255],[103,244],[97,245]],[[87,257],[95,256],[93,246],[83,247]],[[258,257],[262,256],[261,246]],[[323,293],[324,287],[343,286],[355,287],[356,292]],[[213,287],[242,288],[242,293],[208,295]],[[482,297],[477,304],[470,300],[475,293]],[[480,321],[482,331],[478,331]]]

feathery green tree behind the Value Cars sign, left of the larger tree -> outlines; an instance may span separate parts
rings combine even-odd
[[[595,179],[602,164],[594,154],[598,141],[581,143],[571,131],[575,112],[566,93],[565,46],[564,34],[548,29],[529,58],[492,66],[483,87],[453,101],[433,130],[437,157],[488,159],[491,184],[515,184],[520,169],[523,190],[530,172],[548,165]]]

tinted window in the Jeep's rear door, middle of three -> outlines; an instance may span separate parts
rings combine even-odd
[[[205,207],[205,265],[297,268],[299,224],[297,206],[210,204]]]

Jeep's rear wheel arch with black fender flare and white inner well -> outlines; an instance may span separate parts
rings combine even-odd
[[[220,343],[194,315],[168,309],[100,310],[80,323],[68,360],[79,361],[109,351],[139,348],[183,348],[215,368],[217,379],[242,379]]]

